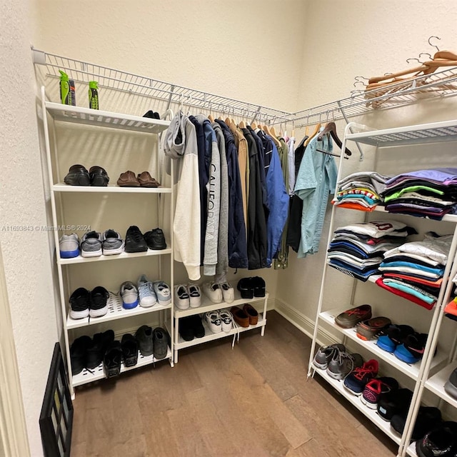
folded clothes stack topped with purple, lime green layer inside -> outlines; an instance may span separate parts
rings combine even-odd
[[[389,213],[441,221],[445,214],[457,214],[457,168],[399,174],[386,182],[382,196]]]

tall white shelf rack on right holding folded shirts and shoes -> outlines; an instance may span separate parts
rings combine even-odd
[[[357,133],[352,134],[351,131],[356,131]],[[441,144],[448,141],[457,141],[456,134],[457,120],[384,130],[375,130],[360,124],[350,123],[346,126],[341,150],[344,151],[348,141],[356,142],[358,145],[371,146],[367,148],[368,150],[366,151],[365,158],[371,159],[374,166],[368,166],[369,168],[366,168],[366,171],[380,171],[381,174],[386,174],[386,170],[382,169],[382,165],[385,165],[383,162],[384,151],[390,151],[388,159],[385,160],[388,164],[390,161],[390,166],[393,168],[393,172],[390,174],[391,176],[394,176],[400,172],[398,169],[396,171],[396,164],[400,164],[403,168],[411,166],[410,169],[401,169],[401,171],[427,169],[433,168],[434,166],[456,166],[456,161],[455,159],[452,159],[452,154],[448,154],[447,157],[446,154],[443,154],[440,160]],[[372,146],[375,146],[375,149],[373,149]],[[402,148],[398,149],[397,152],[396,149],[391,149],[392,146],[402,146]],[[422,154],[422,159],[416,159],[414,154],[415,148],[421,148],[421,150],[416,149],[416,151],[419,151],[418,154]],[[424,151],[426,151],[425,159],[423,159]],[[371,154],[374,154],[374,156],[371,156]],[[361,159],[363,159],[363,154],[361,154]],[[427,166],[428,162],[433,163],[433,165]],[[338,181],[348,174],[347,172],[346,174],[343,172],[343,165],[345,165],[345,163],[347,164],[347,161],[340,160]],[[356,218],[355,216],[357,213],[358,217]],[[328,230],[327,249],[328,245],[331,243],[333,232],[336,227],[347,224],[348,214],[354,214],[354,219],[360,221],[361,218],[359,215],[363,213],[361,211],[341,209],[338,208],[338,206],[333,206]],[[341,223],[341,221],[339,221],[340,216],[345,218],[345,222]],[[430,404],[430,401],[427,400],[428,406],[440,407],[443,405],[443,402],[446,402],[453,408],[457,408],[457,399],[448,396],[443,388],[444,383],[448,380],[448,376],[453,369],[457,367],[457,362],[454,360],[457,332],[456,336],[453,338],[453,343],[448,344],[445,347],[441,347],[438,344],[440,337],[443,337],[443,308],[450,299],[452,291],[451,278],[457,271],[457,262],[454,261],[457,250],[457,216],[446,215],[443,217],[442,221],[431,221],[414,216],[389,214],[381,206],[377,207],[372,214],[365,213],[364,216],[366,221],[380,219],[403,221],[406,224],[415,227],[416,230],[420,232],[420,235],[416,239],[422,239],[423,232],[429,230],[437,231],[441,235],[453,233],[451,248],[448,251],[448,263],[446,264],[443,274],[443,283],[440,288],[438,300],[431,311],[426,311],[420,306],[396,296],[391,298],[391,300],[392,303],[397,303],[398,307],[393,305],[389,306],[389,304],[386,303],[386,301],[388,301],[386,300],[386,296],[391,296],[392,294],[381,291],[381,288],[372,284],[378,276],[376,276],[376,278],[370,277],[366,283],[347,276],[348,281],[352,281],[351,301],[349,303],[329,303],[326,298],[326,290],[330,287],[328,282],[329,270],[332,271],[332,274],[342,275],[343,273],[330,268],[328,266],[328,261],[326,260],[324,262],[321,278],[316,327],[313,333],[311,356],[308,363],[308,377],[314,376],[314,374],[317,373],[323,380],[333,386],[341,396],[346,398],[349,403],[361,411],[369,421],[373,422],[381,431],[386,433],[389,438],[398,444],[398,456],[416,456],[416,443],[411,443],[410,438],[413,433],[418,408],[421,406],[424,399],[424,391],[433,393],[434,396],[432,395],[431,397],[436,398],[436,401],[433,401],[433,404]],[[407,324],[408,320],[405,318],[405,316],[408,316],[406,313],[407,311],[408,313],[413,313],[415,315],[413,316],[415,321],[421,320],[421,322],[419,322],[421,323],[421,328],[413,326],[416,328],[416,331],[428,333],[425,352],[420,362],[411,365],[403,363],[393,356],[393,354],[378,348],[378,346],[376,346],[376,341],[363,341],[358,338],[356,336],[355,328],[344,329],[335,324],[335,317],[338,316],[339,313],[342,313],[353,306],[362,304],[357,302],[357,298],[363,296],[363,293],[366,294],[367,288],[371,288],[369,289],[371,301],[366,301],[366,303],[371,303],[373,305],[373,317],[384,315],[390,317],[393,323]],[[398,316],[400,314],[401,316]],[[343,388],[343,381],[336,381],[333,378],[330,378],[325,370],[313,366],[313,357],[318,346],[318,338],[322,338],[322,336],[336,338],[336,341],[342,342],[346,346],[350,346],[350,348],[355,348],[353,352],[361,350],[362,352],[365,351],[366,353],[369,353],[371,358],[376,358],[376,360],[380,362],[381,367],[383,366],[388,369],[388,376],[395,376],[394,373],[398,373],[399,377],[405,378],[406,380],[409,378],[409,385],[404,387],[412,387],[413,400],[408,410],[406,426],[401,435],[394,431],[393,428],[391,428],[390,423],[384,421],[376,411],[363,405],[358,396],[353,396]],[[430,395],[427,395],[427,398],[429,397]]]

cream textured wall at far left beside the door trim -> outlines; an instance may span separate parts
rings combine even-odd
[[[36,229],[46,224],[46,209],[28,6],[26,0],[0,0],[0,242],[35,457],[41,455],[38,419],[57,331],[47,232]]]

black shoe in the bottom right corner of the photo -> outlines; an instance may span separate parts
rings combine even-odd
[[[418,457],[454,457],[457,452],[457,422],[442,422],[416,441]]]

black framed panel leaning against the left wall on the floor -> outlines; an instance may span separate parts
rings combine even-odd
[[[69,457],[73,403],[59,343],[54,346],[39,425],[44,456]]]

